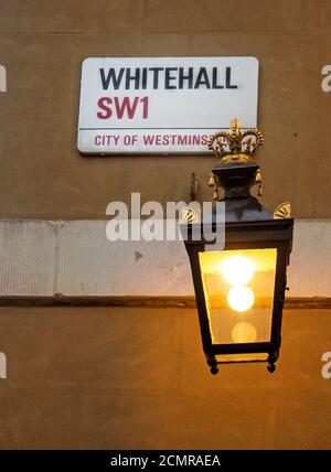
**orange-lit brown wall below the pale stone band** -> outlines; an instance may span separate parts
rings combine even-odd
[[[330,449],[330,331],[286,311],[275,374],[212,376],[195,310],[1,308],[0,449]]]

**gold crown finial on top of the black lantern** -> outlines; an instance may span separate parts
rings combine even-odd
[[[237,118],[229,122],[229,130],[221,130],[209,138],[209,149],[221,158],[222,163],[245,163],[254,161],[254,153],[263,146],[264,138],[257,128],[242,131]]]

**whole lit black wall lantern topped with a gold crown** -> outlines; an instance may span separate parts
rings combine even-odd
[[[206,226],[215,230],[222,224],[216,218],[217,205],[207,218],[190,223],[184,237],[203,351],[212,374],[218,372],[218,364],[238,362],[267,362],[271,373],[279,355],[293,219],[289,203],[279,205],[273,215],[250,194],[255,184],[261,193],[254,159],[260,144],[261,133],[256,128],[242,130],[237,119],[229,131],[210,138],[209,148],[221,158],[212,169],[210,185],[215,185],[214,200],[224,202],[224,246],[214,250],[203,236]],[[224,195],[218,199],[221,189]]]

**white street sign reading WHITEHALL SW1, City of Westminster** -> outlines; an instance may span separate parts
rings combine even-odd
[[[77,147],[86,154],[203,153],[238,118],[256,126],[256,57],[88,57]]]

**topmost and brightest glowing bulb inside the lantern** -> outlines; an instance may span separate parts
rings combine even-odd
[[[245,256],[231,256],[221,266],[221,272],[228,283],[244,286],[248,283],[256,266],[253,260]]]

